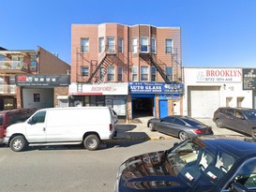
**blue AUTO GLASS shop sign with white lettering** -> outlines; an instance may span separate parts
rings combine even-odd
[[[173,94],[183,92],[181,82],[129,82],[129,94]]]

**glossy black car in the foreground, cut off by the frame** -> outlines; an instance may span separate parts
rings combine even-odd
[[[114,191],[256,191],[255,149],[254,140],[224,136],[185,140],[129,158],[119,168]]]

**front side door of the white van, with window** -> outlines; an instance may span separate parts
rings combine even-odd
[[[46,111],[38,111],[26,121],[28,142],[46,142]]]

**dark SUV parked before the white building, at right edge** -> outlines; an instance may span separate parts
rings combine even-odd
[[[219,128],[227,127],[256,139],[256,110],[248,108],[218,108],[213,121]]]

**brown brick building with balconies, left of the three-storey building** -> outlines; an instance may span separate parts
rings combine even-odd
[[[60,87],[43,82],[49,81],[53,75],[54,80],[58,80],[59,75],[66,75],[69,71],[67,63],[43,48],[38,47],[37,51],[1,48],[0,111],[54,107],[62,104],[64,97],[64,102],[68,103],[68,85]],[[34,79],[41,83],[29,83]],[[16,85],[17,81],[21,86]],[[58,99],[58,96],[61,97]]]

